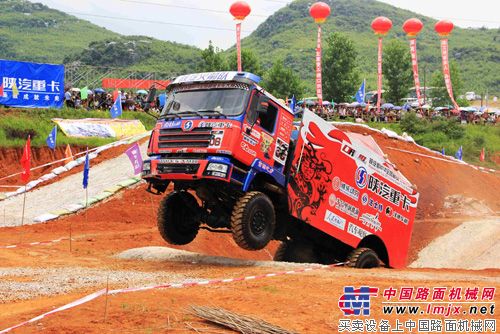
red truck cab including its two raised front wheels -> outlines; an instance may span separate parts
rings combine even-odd
[[[167,87],[142,176],[154,193],[173,184],[158,217],[168,242],[188,243],[200,226],[232,232],[250,250],[274,237],[276,211],[287,203],[293,113],[259,81],[212,72],[179,76]]]

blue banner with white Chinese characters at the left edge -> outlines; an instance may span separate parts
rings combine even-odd
[[[25,108],[61,108],[64,65],[0,59],[0,104]]]

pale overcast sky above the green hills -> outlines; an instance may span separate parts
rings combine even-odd
[[[205,48],[208,41],[223,49],[234,44],[234,0],[30,0],[42,2],[125,35],[146,35]],[[247,0],[252,13],[243,37],[290,1]],[[313,1],[311,1],[313,2]],[[500,0],[382,0],[460,27],[500,27]],[[335,9],[334,9],[335,10]],[[133,19],[131,21],[127,19]]]

